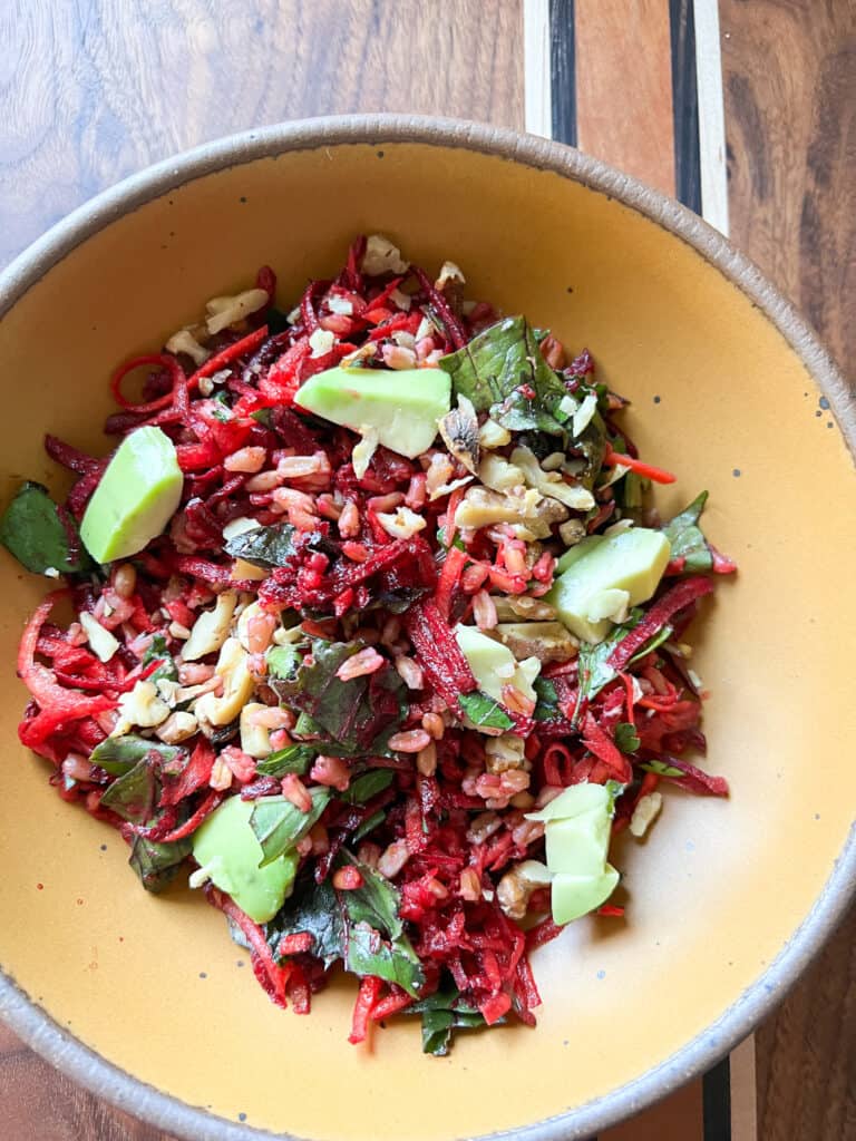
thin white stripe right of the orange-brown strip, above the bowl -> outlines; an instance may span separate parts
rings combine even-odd
[[[698,155],[702,217],[728,234],[728,172],[722,105],[722,54],[718,0],[693,0],[695,73],[698,91]]]

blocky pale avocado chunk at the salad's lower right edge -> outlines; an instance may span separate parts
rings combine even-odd
[[[550,907],[559,925],[600,907],[619,882],[606,853],[620,787],[615,782],[571,785],[526,817],[544,824],[547,867],[552,874]]]

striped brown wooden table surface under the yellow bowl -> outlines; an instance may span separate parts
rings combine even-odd
[[[729,226],[856,361],[856,0],[6,0],[0,43],[0,264],[207,139],[454,115],[576,143]],[[856,1139],[855,948],[853,913],[758,1031],[762,1141]],[[167,1141],[2,1027],[0,1104],[16,1141]]]

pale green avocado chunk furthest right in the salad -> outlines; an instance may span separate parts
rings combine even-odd
[[[631,527],[591,535],[559,559],[559,576],[544,601],[578,638],[603,641],[629,607],[652,597],[670,555],[662,531]]]

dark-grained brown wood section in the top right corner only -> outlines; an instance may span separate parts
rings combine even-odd
[[[732,240],[856,362],[856,0],[722,0]]]

